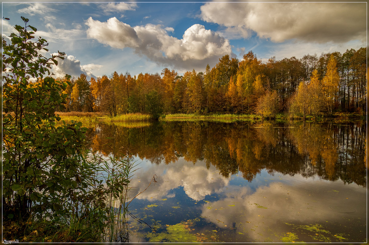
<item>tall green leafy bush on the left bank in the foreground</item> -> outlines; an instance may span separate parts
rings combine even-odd
[[[65,108],[67,95],[62,91],[70,85],[70,76],[55,81],[45,74],[51,75],[51,65],[65,53],[51,58],[39,54],[48,51],[48,43],[35,38],[37,29],[21,18],[25,25],[15,25],[11,43],[3,38],[3,237],[21,235],[24,242],[30,241],[28,235],[37,236],[28,224],[37,223],[47,224],[42,230],[54,232],[54,238],[34,241],[101,240],[104,227],[115,217],[109,202],[122,200],[130,164],[113,157],[110,161],[124,171],[115,170],[114,181],[104,185],[110,175],[100,173],[108,173],[109,164],[84,149],[86,128],[75,121],[56,124],[61,118],[55,110]],[[15,223],[21,228],[12,234]],[[81,240],[81,226],[89,230],[88,239]],[[59,232],[58,227],[67,230]]]

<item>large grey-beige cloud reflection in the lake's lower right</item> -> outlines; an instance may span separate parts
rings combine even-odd
[[[202,205],[201,215],[220,228],[226,225],[233,227],[236,234],[247,234],[252,242],[280,242],[280,234],[296,232],[294,229],[300,225],[314,224],[323,224],[321,230],[327,231],[324,236],[329,241],[334,241],[335,234],[345,234],[346,239],[349,234],[351,241],[363,241],[366,230],[361,220],[366,216],[363,193],[336,184],[317,185],[301,180],[290,184],[273,182],[256,191],[232,187],[237,189],[229,189],[225,198],[211,202],[211,209]],[[313,233],[313,239],[317,232]],[[299,234],[297,241],[309,241],[309,235]]]

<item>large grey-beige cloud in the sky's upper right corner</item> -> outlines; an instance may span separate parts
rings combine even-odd
[[[366,40],[366,3],[206,3],[201,18],[240,38],[255,32],[273,42]]]

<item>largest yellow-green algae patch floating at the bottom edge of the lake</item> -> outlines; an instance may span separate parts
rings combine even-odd
[[[149,242],[197,242],[197,237],[184,227],[184,224],[175,224],[166,227],[165,232],[149,233],[146,235]]]

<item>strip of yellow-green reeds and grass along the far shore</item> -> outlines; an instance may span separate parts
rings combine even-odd
[[[94,125],[103,123],[114,123],[123,127],[145,127],[148,126],[152,118],[149,114],[141,113],[128,113],[119,115],[116,117],[110,117],[100,112],[55,112],[61,117],[62,123],[64,120],[66,123],[73,121],[80,121],[86,127],[93,127]],[[256,114],[195,114],[195,113],[176,113],[162,115],[159,120],[162,121],[215,121],[220,123],[231,123],[235,121],[262,121],[262,120],[276,120],[276,121],[287,121],[291,120],[287,113],[278,113],[275,117],[263,117]],[[294,117],[293,120],[308,120],[308,121],[323,121],[323,120],[366,120],[366,115],[361,113],[340,113],[336,112],[331,115],[318,115],[318,116],[307,116]]]

